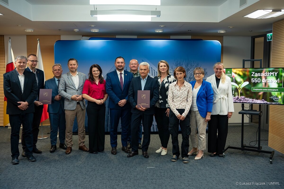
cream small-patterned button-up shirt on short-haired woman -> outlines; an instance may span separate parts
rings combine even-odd
[[[179,115],[176,109],[185,109],[182,116],[186,117],[192,101],[192,86],[184,81],[183,86],[179,89],[179,86],[176,84],[177,82],[178,81],[170,84],[168,102],[176,116]]]

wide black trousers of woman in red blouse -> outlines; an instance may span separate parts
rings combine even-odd
[[[86,108],[88,116],[89,150],[90,152],[105,150],[105,103],[98,105],[88,101]]]

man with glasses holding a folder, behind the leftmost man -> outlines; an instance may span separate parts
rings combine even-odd
[[[39,102],[39,90],[43,89],[44,87],[44,74],[43,71],[40,69],[36,69],[37,66],[37,56],[35,54],[30,54],[28,56],[28,67],[26,68],[26,71],[32,72],[36,75],[36,82],[37,82],[37,96],[34,99],[34,107],[35,107],[35,112],[34,112],[34,118],[33,118],[33,123],[32,123],[32,133],[33,133],[33,152],[40,154],[41,150],[38,150],[36,147],[37,143],[37,135],[39,132],[39,124],[41,120],[41,115],[43,111],[43,104]],[[26,157],[25,150],[26,150],[26,141],[24,139],[24,131],[22,132],[22,156]]]

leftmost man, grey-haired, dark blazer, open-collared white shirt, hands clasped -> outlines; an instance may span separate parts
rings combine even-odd
[[[30,162],[36,161],[33,156],[32,121],[34,99],[37,96],[36,75],[26,71],[27,58],[17,56],[15,69],[3,75],[4,95],[7,98],[7,114],[11,125],[12,164],[18,164],[20,128],[23,125],[26,141],[26,157]]]

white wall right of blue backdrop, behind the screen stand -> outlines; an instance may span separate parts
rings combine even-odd
[[[223,63],[226,68],[243,67],[243,59],[250,59],[250,43],[251,37],[227,37],[223,38]],[[245,104],[246,106],[246,104]],[[248,105],[247,105],[248,106]],[[241,104],[234,103],[235,112],[229,119],[229,124],[241,123]],[[245,123],[249,122],[249,118],[245,116]]]

